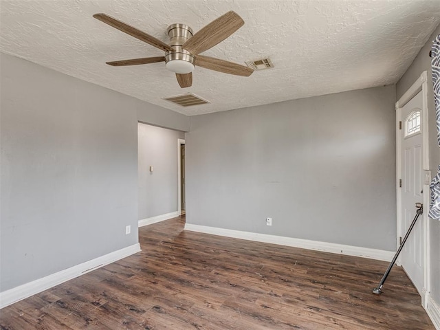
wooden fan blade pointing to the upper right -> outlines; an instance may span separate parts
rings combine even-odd
[[[239,30],[244,23],[243,19],[241,19],[236,12],[231,10],[201,28],[201,30],[186,41],[182,47],[191,54],[197,55],[228,38],[228,36],[233,34],[236,30]]]

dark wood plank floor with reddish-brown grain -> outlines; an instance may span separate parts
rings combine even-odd
[[[434,329],[387,263],[186,232],[140,228],[142,252],[0,311],[1,329]]]

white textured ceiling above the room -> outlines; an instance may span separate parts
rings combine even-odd
[[[168,25],[197,32],[228,10],[245,25],[203,54],[270,56],[274,69],[244,78],[196,67],[186,89],[164,63],[104,64],[163,53],[92,18],[104,12],[167,43]],[[1,0],[0,51],[195,115],[396,83],[439,23],[439,0]],[[162,100],[188,92],[212,103]]]

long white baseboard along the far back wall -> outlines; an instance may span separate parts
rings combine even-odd
[[[391,261],[395,254],[395,252],[392,251],[360,248],[358,246],[342,245],[336,243],[309,241],[307,239],[294,239],[292,237],[259,234],[256,232],[241,232],[239,230],[207,227],[206,225],[193,225],[191,223],[185,224],[185,230],[190,230],[192,232],[204,232],[206,234],[213,234],[219,236],[233,237],[234,239],[247,239],[248,241],[287,245],[287,246],[293,246],[294,248],[317,250],[317,251],[331,252],[337,254],[347,254],[348,256],[362,256],[363,258],[377,259],[382,261]]]

